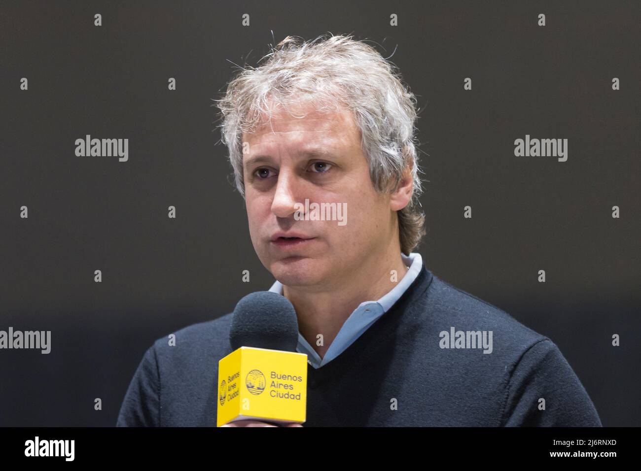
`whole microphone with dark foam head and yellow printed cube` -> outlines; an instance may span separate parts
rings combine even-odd
[[[263,420],[302,424],[307,404],[307,355],[296,352],[298,319],[278,293],[238,301],[231,318],[233,351],[218,363],[216,424]]]

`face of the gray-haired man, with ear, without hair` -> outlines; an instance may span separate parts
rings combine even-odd
[[[243,135],[246,208],[265,268],[283,285],[320,291],[349,283],[365,261],[388,251],[395,215],[390,196],[374,190],[352,113],[320,113],[301,103],[294,115],[303,113],[279,110],[271,126]],[[305,199],[346,203],[347,223],[295,219],[295,205]],[[312,239],[273,240],[277,233]]]

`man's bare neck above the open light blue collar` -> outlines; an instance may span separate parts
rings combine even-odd
[[[376,301],[390,292],[407,274],[408,268],[401,258],[401,251],[387,257],[372,257],[370,267],[361,265],[358,276],[331,292],[305,292],[283,286],[283,295],[292,302],[298,317],[299,332],[320,358],[325,356],[345,320],[358,305]],[[397,276],[392,281],[391,271]],[[318,335],[322,335],[322,345]]]

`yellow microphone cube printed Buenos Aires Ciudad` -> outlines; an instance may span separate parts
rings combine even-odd
[[[307,355],[240,347],[218,362],[216,426],[235,420],[305,421]]]

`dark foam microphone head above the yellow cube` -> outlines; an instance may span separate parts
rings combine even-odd
[[[231,349],[259,349],[296,352],[298,318],[289,300],[271,291],[249,293],[238,301],[229,329]]]

